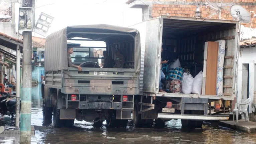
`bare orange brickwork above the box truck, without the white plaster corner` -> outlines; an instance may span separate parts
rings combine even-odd
[[[150,0],[149,0],[150,1]],[[154,0],[151,0],[154,1]],[[161,0],[161,1],[169,1],[169,3],[175,3],[176,0]],[[212,3],[219,3],[222,0],[209,0]],[[182,0],[181,4],[155,4],[153,2],[152,9],[151,9],[151,16],[158,17],[160,15],[170,15],[170,16],[181,16],[181,17],[195,17],[195,11],[197,6],[191,5],[192,3],[195,4],[195,0]],[[205,0],[200,0],[199,3],[204,4]],[[233,17],[230,14],[230,6],[232,6],[233,0],[224,0],[224,6],[222,6],[222,14],[221,17],[227,20],[233,20]],[[191,3],[191,4],[189,4]],[[240,0],[240,5],[246,8],[249,12],[255,11],[256,12],[256,0]],[[211,9],[209,6],[199,6],[202,11],[202,18],[206,18],[213,13],[217,13],[216,10]],[[253,14],[251,15],[253,17]],[[213,15],[212,18],[219,18],[219,15]],[[244,26],[249,27],[251,23],[248,23]],[[256,18],[253,19],[252,28],[256,28]]]

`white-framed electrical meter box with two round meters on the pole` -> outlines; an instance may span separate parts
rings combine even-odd
[[[19,31],[32,31],[33,25],[33,9],[32,7],[19,7]]]

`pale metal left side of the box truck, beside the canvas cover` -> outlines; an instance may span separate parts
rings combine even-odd
[[[156,93],[159,87],[160,53],[161,53],[161,17],[147,20],[133,26],[140,32],[141,71],[140,92]]]

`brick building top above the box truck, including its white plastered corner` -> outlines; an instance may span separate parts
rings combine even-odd
[[[129,0],[126,3],[130,8],[142,9],[142,20],[147,20],[160,15],[195,17],[196,9],[201,9],[202,18],[219,18],[218,10],[211,8],[211,4],[220,6],[222,0]],[[256,0],[223,0],[221,7],[221,17],[227,20],[233,20],[230,14],[230,7],[234,4],[241,5],[249,12],[256,12]],[[214,14],[214,15],[213,15]],[[251,13],[251,17],[254,14]],[[246,24],[249,27],[251,23]],[[252,28],[256,27],[256,18],[253,19]]]

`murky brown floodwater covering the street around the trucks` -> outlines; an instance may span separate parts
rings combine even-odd
[[[42,126],[42,99],[39,87],[32,88],[31,124]],[[245,134],[224,127],[211,127],[204,123],[202,130],[181,130],[180,120],[165,123],[164,128],[135,128],[130,121],[126,129],[106,129],[106,122],[101,128],[92,123],[75,121],[73,128],[53,129],[50,125],[45,130],[36,130],[31,138],[34,144],[256,144],[256,134]],[[13,129],[14,123],[5,125]],[[18,136],[0,136],[0,143],[18,143]]]

